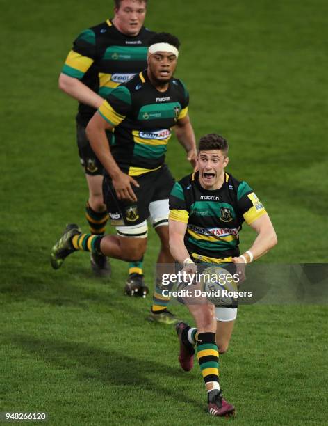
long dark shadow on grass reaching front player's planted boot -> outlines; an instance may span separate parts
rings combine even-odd
[[[80,378],[87,381],[93,379],[113,386],[133,386],[136,395],[146,387],[149,392],[156,393],[154,403],[165,395],[165,397],[172,397],[174,401],[179,400],[194,406],[196,404],[204,409],[204,404],[186,394],[181,394],[178,389],[161,386],[158,375],[163,377],[163,382],[165,377],[178,381],[186,379],[186,373],[178,367],[172,368],[149,359],[133,358],[124,354],[123,351],[98,349],[84,343],[38,339],[25,335],[8,336],[8,340],[35,358],[42,357],[46,363],[56,365],[60,369],[66,368],[70,372],[75,370]],[[139,390],[138,387],[140,387]]]

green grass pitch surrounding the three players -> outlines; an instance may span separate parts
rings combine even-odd
[[[198,366],[179,370],[174,331],[145,322],[150,298],[122,295],[126,265],[113,262],[110,283],[92,277],[81,253],[49,267],[65,223],[87,229],[76,103],[58,90],[58,73],[77,33],[111,7],[1,8],[0,411],[46,411],[52,425],[218,423]],[[277,229],[261,262],[327,261],[327,13],[324,0],[149,1],[148,26],[181,38],[177,76],[197,138],[227,137],[228,170],[256,190]],[[177,141],[168,150],[175,177],[189,173]],[[157,251],[151,232],[149,283]],[[326,322],[326,306],[240,308],[222,356],[233,423],[327,423]]]

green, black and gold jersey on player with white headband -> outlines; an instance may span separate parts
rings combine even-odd
[[[170,79],[167,90],[159,92],[147,70],[110,93],[98,111],[115,127],[110,150],[122,171],[138,176],[164,164],[171,127],[186,117],[188,103],[181,80]]]

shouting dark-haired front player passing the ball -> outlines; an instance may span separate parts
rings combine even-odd
[[[175,183],[170,194],[170,250],[188,274],[204,271],[211,264],[235,269],[237,264],[260,258],[277,244],[268,213],[252,188],[224,171],[229,163],[228,150],[222,136],[202,137],[197,172]],[[240,255],[239,231],[244,221],[257,236],[249,250]],[[196,349],[208,392],[208,412],[212,416],[232,415],[233,405],[222,398],[218,358],[219,352],[227,351],[237,306],[216,307],[208,301],[195,303],[188,298],[183,302],[197,329],[183,322],[177,324],[181,367],[192,369]]]

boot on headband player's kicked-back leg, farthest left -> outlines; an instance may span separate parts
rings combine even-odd
[[[81,234],[81,229],[75,223],[66,225],[63,235],[51,249],[50,262],[54,269],[59,269],[67,256],[76,251],[72,245],[72,237],[79,234]]]

